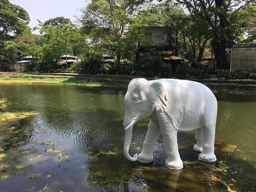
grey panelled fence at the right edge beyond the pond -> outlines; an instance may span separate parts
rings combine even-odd
[[[244,69],[254,71],[256,69],[256,47],[232,47],[230,70]]]

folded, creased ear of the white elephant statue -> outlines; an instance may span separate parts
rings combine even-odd
[[[150,84],[150,99],[154,104],[156,111],[164,111],[168,104],[168,92],[159,82]]]

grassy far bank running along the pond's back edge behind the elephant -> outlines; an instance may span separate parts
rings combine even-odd
[[[43,83],[66,84],[89,87],[127,87],[135,76],[121,75],[80,75],[80,74],[27,74],[0,72],[0,83]],[[147,78],[153,80],[157,78]],[[256,80],[201,80],[188,79],[200,82],[216,92],[256,93]]]

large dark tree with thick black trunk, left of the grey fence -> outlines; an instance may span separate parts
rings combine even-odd
[[[205,24],[202,27],[206,29],[207,34],[210,32],[217,68],[228,68],[225,50],[233,46],[244,33],[246,22],[242,18],[241,10],[255,3],[255,0],[177,0],[177,2]]]

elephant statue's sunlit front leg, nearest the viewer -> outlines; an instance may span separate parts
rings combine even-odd
[[[183,168],[183,162],[180,159],[177,143],[177,129],[173,129],[170,132],[162,132],[164,138],[164,144],[168,159],[165,161],[165,166],[169,169],[180,170]]]

